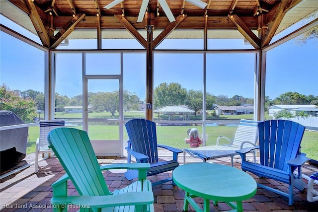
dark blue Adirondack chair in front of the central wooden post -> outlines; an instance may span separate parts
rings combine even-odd
[[[147,175],[152,176],[162,172],[171,171],[179,166],[178,154],[182,152],[166,145],[157,143],[156,123],[146,119],[132,119],[126,124],[129,141],[126,147],[128,163],[131,163],[131,156],[136,158],[137,163],[150,163]],[[162,161],[158,157],[158,147],[168,149],[172,152],[172,160]],[[128,180],[136,178],[138,175],[135,170],[127,170],[125,176]],[[172,178],[154,182],[152,185],[159,185]]]

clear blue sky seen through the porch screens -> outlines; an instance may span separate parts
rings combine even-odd
[[[11,27],[5,18],[1,16],[1,23]],[[17,31],[21,29],[16,29]],[[35,36],[33,36],[35,37]],[[0,83],[5,83],[10,89],[27,89],[44,91],[44,54],[41,51],[30,48],[27,44],[17,41],[11,36],[1,32],[0,34]],[[39,40],[37,39],[39,42]],[[103,41],[103,45],[109,49],[118,46],[130,45],[130,48],[139,48],[138,42],[134,41]],[[83,44],[83,41],[71,41],[72,48],[83,49],[95,48],[95,42]],[[130,44],[128,44],[130,43]],[[180,48],[202,49],[202,40],[174,40],[169,39],[162,42],[159,49]],[[84,46],[83,46],[84,45]],[[250,45],[243,45],[242,39],[225,41],[222,39],[211,40],[213,49],[238,49],[240,47],[252,49]],[[131,47],[132,46],[132,47]],[[118,55],[107,56],[103,60],[89,59],[86,64],[90,70],[97,73],[107,70],[108,73],[118,72]],[[93,58],[92,57],[92,58]],[[154,86],[161,82],[178,82],[183,87],[194,90],[202,90],[202,54],[155,54],[154,64]],[[43,60],[42,60],[43,58]],[[136,93],[141,99],[145,98],[145,54],[124,55],[124,88]],[[81,56],[61,55],[59,59],[59,72],[57,73],[57,92],[61,95],[73,97],[81,92]],[[32,62],[34,61],[34,62]],[[98,64],[96,61],[99,61]],[[27,64],[27,65],[26,65]],[[87,67],[86,66],[86,67]],[[291,40],[278,48],[267,53],[266,65],[266,95],[274,99],[282,93],[292,91],[304,95],[318,96],[318,42],[309,40],[306,44],[299,46]],[[241,95],[246,98],[253,98],[253,54],[208,54],[207,56],[207,91],[213,95]],[[75,77],[73,72],[77,72]],[[22,77],[21,77],[22,76]],[[130,79],[130,80],[128,80]],[[131,80],[133,79],[133,80]],[[108,81],[110,82],[110,81]],[[114,88],[114,84],[108,83],[109,88],[104,85],[101,88],[97,82],[90,83],[90,90],[108,91]],[[115,83],[118,87],[118,83]],[[115,86],[115,87],[116,87]]]

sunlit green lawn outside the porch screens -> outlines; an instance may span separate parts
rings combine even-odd
[[[81,126],[75,128],[81,129]],[[157,137],[160,144],[170,145],[179,149],[188,148],[189,144],[184,142],[188,138],[188,126],[158,126]],[[197,126],[199,132],[202,132],[202,127]],[[219,136],[227,136],[233,138],[237,127],[225,126],[209,126],[206,127],[207,145],[215,145]],[[89,128],[89,137],[91,140],[119,140],[119,126],[91,126]],[[39,127],[29,127],[29,145],[27,153],[35,152],[35,142],[39,137]],[[200,136],[202,138],[202,136]],[[127,139],[127,133],[124,129],[124,139]],[[308,157],[318,160],[318,132],[305,131],[302,141],[302,152],[305,152]]]

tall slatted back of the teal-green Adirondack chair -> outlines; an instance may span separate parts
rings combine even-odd
[[[85,131],[54,129],[49,133],[48,141],[80,195],[110,194]]]

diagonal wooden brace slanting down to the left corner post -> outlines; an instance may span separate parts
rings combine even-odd
[[[85,17],[85,14],[77,14],[73,17],[52,39],[51,49],[55,49],[62,43],[75,29],[75,26]]]

